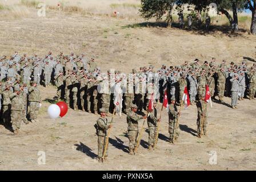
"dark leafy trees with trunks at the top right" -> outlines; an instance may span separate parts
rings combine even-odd
[[[199,12],[201,14],[207,13],[213,3],[217,5],[218,13],[226,15],[233,31],[238,31],[239,28],[238,13],[250,10],[252,12],[250,32],[256,35],[256,0],[141,0],[140,13],[145,19],[155,18],[157,20],[166,15],[166,21],[171,24],[174,7],[176,10],[182,11],[185,7],[183,5],[188,5],[187,9],[191,13]],[[193,9],[191,9],[192,6]],[[233,13],[230,14],[230,11]]]

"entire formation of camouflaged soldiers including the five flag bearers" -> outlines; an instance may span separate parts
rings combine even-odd
[[[15,52],[14,55],[0,57],[0,109],[1,120],[18,133],[21,123],[37,122],[41,97],[37,85],[57,87],[56,99],[65,101],[74,110],[101,114],[97,120],[99,160],[107,156],[106,135],[111,127],[106,115],[122,112],[127,115],[127,134],[130,140],[129,153],[135,154],[139,138],[138,121],[147,119],[149,127],[149,149],[153,148],[157,126],[155,106],[163,101],[165,90],[169,100],[169,133],[170,141],[179,136],[177,118],[180,114],[177,106],[182,104],[185,87],[189,91],[191,105],[198,108],[198,136],[207,134],[207,107],[204,102],[206,85],[210,96],[218,102],[231,97],[230,107],[238,108],[238,100],[253,100],[256,92],[256,64],[241,64],[225,60],[217,64],[211,61],[200,63],[185,61],[179,66],[162,65],[156,72],[152,65],[133,69],[125,75],[117,70],[109,69],[102,73],[97,66],[95,57],[90,59],[82,55],[53,56],[41,58],[38,55],[28,57]],[[154,97],[152,97],[154,96]],[[147,111],[149,102],[153,101],[154,109]],[[124,106],[123,106],[124,105]],[[147,113],[143,113],[147,111]]]

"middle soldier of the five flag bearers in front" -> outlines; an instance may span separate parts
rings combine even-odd
[[[149,117],[147,117],[147,126],[149,127],[149,150],[154,145],[154,142],[157,137],[157,126],[160,119],[157,119],[157,102],[153,102],[153,110],[148,109],[147,112],[149,113]]]

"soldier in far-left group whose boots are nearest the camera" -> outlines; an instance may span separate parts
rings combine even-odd
[[[14,93],[11,95],[11,127],[13,133],[18,134],[18,130],[21,128],[21,115],[22,115],[22,97],[19,96],[19,88],[14,89]]]

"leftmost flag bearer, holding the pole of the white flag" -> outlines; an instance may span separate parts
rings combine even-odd
[[[107,131],[111,128],[111,123],[107,121],[106,110],[104,108],[99,109],[101,117],[97,119],[97,135],[98,135],[98,161],[103,162],[103,152],[106,146]],[[106,148],[105,159],[108,156],[108,147]]]

